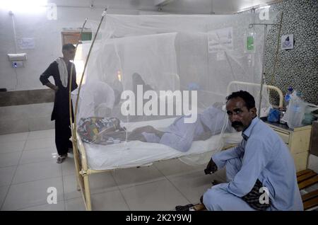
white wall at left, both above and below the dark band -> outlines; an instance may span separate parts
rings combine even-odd
[[[107,13],[139,14],[157,11],[152,0],[54,0],[57,4],[57,20],[47,19],[47,8],[37,13],[23,13],[12,8],[16,27],[16,39],[33,37],[35,48],[20,50],[28,59],[23,68],[13,69],[8,62],[8,53],[16,53],[12,16],[0,4],[0,88],[8,91],[47,88],[40,83],[40,74],[54,59],[61,56],[61,31],[63,28],[81,28],[85,18],[100,21],[101,13],[107,6]],[[24,0],[21,0],[24,1]],[[26,1],[24,1],[26,2]],[[90,4],[93,2],[93,8]],[[88,23],[89,27],[89,23]],[[28,132],[54,128],[50,120],[53,103],[13,105],[0,107],[0,134]]]

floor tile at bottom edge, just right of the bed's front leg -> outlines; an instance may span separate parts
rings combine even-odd
[[[129,207],[119,190],[92,195],[92,209],[100,211],[128,211]]]

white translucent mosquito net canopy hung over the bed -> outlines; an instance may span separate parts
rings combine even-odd
[[[164,125],[165,119],[191,117],[213,105],[221,109],[225,97],[239,90],[249,91],[258,105],[258,86],[229,84],[261,83],[264,25],[249,24],[274,18],[272,13],[264,20],[253,13],[106,15],[88,59],[77,126],[91,117],[116,117],[122,127],[153,120]],[[98,22],[90,22],[94,36]],[[261,108],[269,107],[268,99],[263,91]],[[228,119],[217,120],[224,129]]]

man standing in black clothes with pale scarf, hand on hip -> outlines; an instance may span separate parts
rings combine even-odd
[[[57,146],[57,163],[62,163],[67,157],[72,143],[70,121],[69,121],[69,76],[72,73],[72,90],[77,88],[75,66],[70,60],[74,59],[75,47],[71,44],[63,45],[63,57],[59,57],[52,62],[40,76],[43,85],[55,91],[54,108],[51,120],[55,120],[55,144]],[[49,76],[53,76],[54,83],[49,82]],[[73,117],[73,110],[72,110]]]

